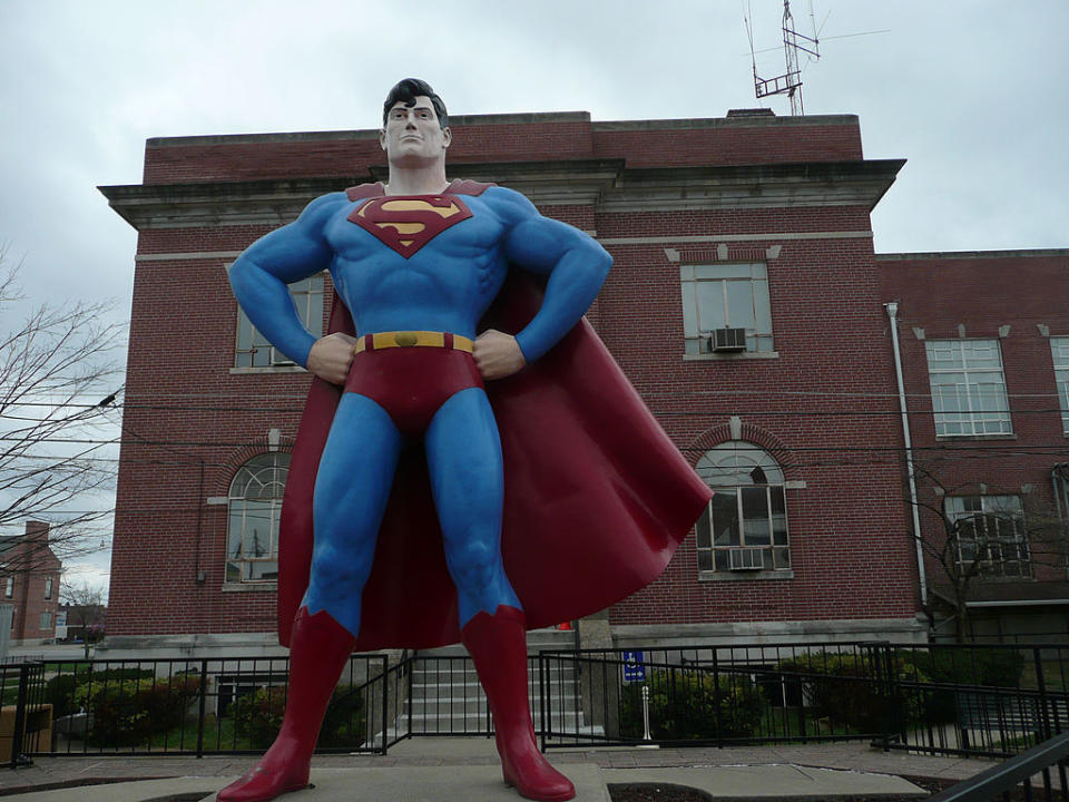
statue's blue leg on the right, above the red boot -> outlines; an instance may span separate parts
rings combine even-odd
[[[479,610],[493,615],[498,605],[522,609],[501,561],[501,440],[481,388],[461,390],[442,404],[425,446],[460,626]]]

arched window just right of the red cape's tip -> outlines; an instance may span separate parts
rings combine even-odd
[[[791,567],[783,471],[753,443],[717,446],[696,466],[715,496],[696,525],[699,571]]]

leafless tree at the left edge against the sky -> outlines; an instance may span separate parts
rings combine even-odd
[[[0,319],[27,309],[19,265],[0,250]],[[0,535],[24,521],[49,525],[60,559],[99,548],[107,535],[115,463],[101,446],[115,430],[118,349],[125,326],[106,303],[45,303],[0,329]],[[22,536],[26,537],[26,536]],[[39,570],[41,549],[0,564],[0,573]]]

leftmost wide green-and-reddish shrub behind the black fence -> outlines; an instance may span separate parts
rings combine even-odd
[[[137,746],[155,734],[180,726],[200,691],[197,676],[122,679],[78,685],[75,702],[89,712],[94,746]]]

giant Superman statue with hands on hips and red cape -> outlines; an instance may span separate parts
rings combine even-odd
[[[354,648],[457,639],[504,782],[571,799],[536,745],[527,628],[649,583],[708,500],[582,320],[609,255],[516,192],[449,182],[451,138],[441,98],[401,81],[380,133],[389,183],[313,200],[231,268],[253,324],[315,379],[279,536],[285,718],[224,802],[308,784]],[[336,299],[316,339],[286,285],[322,271]]]

